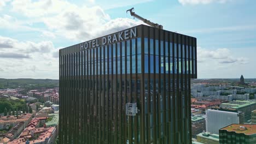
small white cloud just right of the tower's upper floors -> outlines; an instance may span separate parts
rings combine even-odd
[[[248,59],[245,57],[235,57],[229,49],[207,50],[197,47],[197,62],[207,62],[209,59],[216,59],[218,63],[237,63],[247,64]]]

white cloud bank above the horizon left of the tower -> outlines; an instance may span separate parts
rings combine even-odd
[[[0,36],[0,45],[11,44],[0,49],[1,76],[6,78],[32,77],[56,79],[59,70],[59,51],[51,41],[19,41]]]

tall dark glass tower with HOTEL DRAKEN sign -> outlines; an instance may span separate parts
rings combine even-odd
[[[61,49],[60,143],[191,143],[196,77],[196,38],[145,25]]]

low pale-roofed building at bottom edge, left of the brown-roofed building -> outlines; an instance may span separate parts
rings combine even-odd
[[[200,133],[197,136],[197,142],[205,144],[219,144],[219,135],[211,133]]]

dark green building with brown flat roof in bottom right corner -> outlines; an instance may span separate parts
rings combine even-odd
[[[230,124],[220,129],[219,143],[256,143],[256,124]]]

